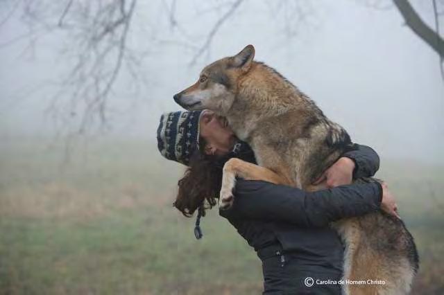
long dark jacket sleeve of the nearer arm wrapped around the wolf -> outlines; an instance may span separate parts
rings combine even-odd
[[[287,222],[301,227],[323,227],[344,217],[364,215],[379,208],[379,183],[352,184],[305,192],[265,181],[239,179],[233,206],[219,214],[227,219]]]

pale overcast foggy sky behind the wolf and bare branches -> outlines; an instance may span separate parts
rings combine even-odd
[[[205,64],[253,44],[256,60],[280,71],[355,142],[374,147],[382,159],[444,163],[444,83],[438,56],[402,25],[394,7],[377,10],[351,0],[301,1],[307,18],[298,23],[300,15],[293,17],[266,1],[246,1],[221,26],[210,51],[189,66],[196,51],[180,44],[203,44],[224,12],[207,12],[201,2],[190,6],[190,1],[178,1],[180,30],[169,25],[162,1],[137,3],[129,44],[150,52],[141,64],[149,84],[135,94],[128,89],[130,77],[124,72],[119,76],[112,107],[122,112],[111,117],[113,135],[154,141],[160,114],[180,109],[174,93],[194,83]],[[413,3],[433,24],[431,1]],[[291,32],[286,24],[293,24]],[[0,44],[23,32],[22,24],[12,19],[0,28]],[[67,40],[58,38],[45,37],[35,51],[24,54],[25,40],[0,49],[2,140],[53,130],[44,109],[56,88],[47,81],[57,81],[69,69],[59,52]]]

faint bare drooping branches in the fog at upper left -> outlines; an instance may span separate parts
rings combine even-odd
[[[107,102],[123,62],[134,73],[137,59],[127,46],[128,31],[137,0],[74,1],[68,0],[56,23],[74,33],[74,66],[62,81],[69,95],[69,116],[80,116],[78,132],[95,123],[107,123]],[[49,111],[58,114],[60,96],[53,99]],[[65,113],[62,114],[63,116]],[[99,122],[97,122],[99,120]]]

